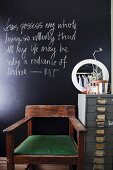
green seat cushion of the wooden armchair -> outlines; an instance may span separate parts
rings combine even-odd
[[[32,135],[14,151],[17,155],[77,155],[69,135]]]

